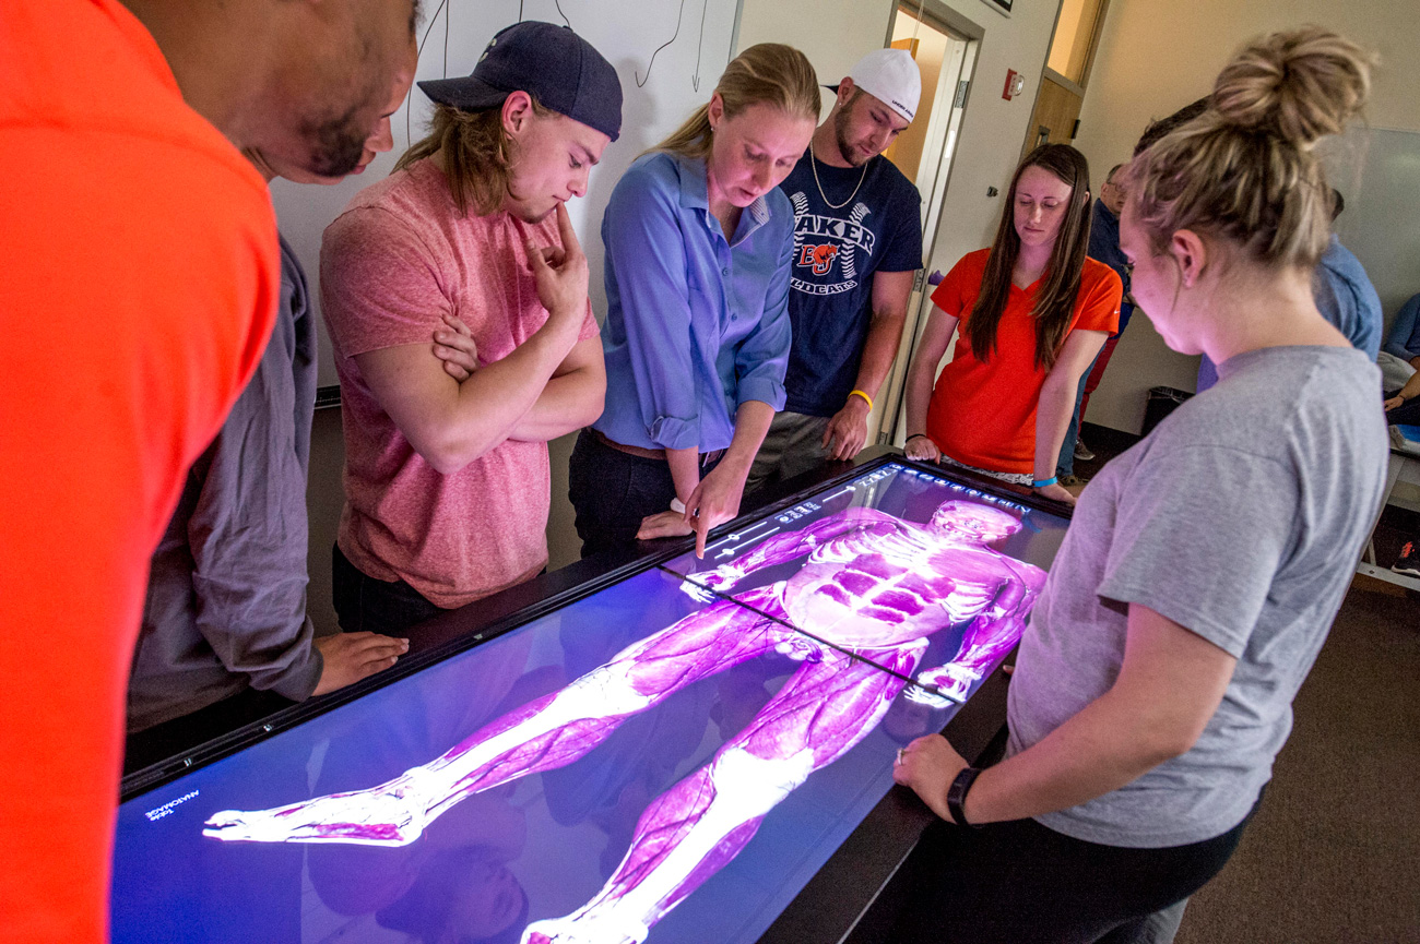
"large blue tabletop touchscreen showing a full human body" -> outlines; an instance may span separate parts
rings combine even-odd
[[[115,941],[760,937],[1015,644],[1066,521],[897,463],[119,809]]]

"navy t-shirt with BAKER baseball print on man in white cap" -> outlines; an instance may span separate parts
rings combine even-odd
[[[814,163],[824,193],[814,182]],[[853,193],[859,179],[862,186]],[[873,314],[873,273],[922,265],[922,197],[883,156],[869,160],[865,173],[863,168],[832,168],[807,150],[780,187],[794,204],[794,346],[784,409],[832,416],[843,409],[858,379]],[[834,203],[848,203],[829,209],[825,193]]]

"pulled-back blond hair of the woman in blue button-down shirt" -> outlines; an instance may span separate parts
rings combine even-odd
[[[818,124],[822,99],[818,74],[808,57],[792,45],[760,43],[730,60],[714,87],[724,102],[724,116],[734,118],[751,105],[774,105],[785,115]],[[683,158],[710,156],[710,105],[701,105],[669,138],[652,150]]]

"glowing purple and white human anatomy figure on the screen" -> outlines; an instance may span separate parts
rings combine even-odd
[[[652,926],[750,842],[809,774],[842,757],[897,694],[936,706],[1015,642],[1045,572],[990,545],[1021,522],[974,501],[927,524],[849,508],[777,534],[682,585],[709,602],[443,755],[364,791],[213,815],[204,835],[240,842],[400,846],[460,801],[588,754],[628,717],[757,656],[801,664],[703,768],[655,798],[602,890],[572,914],[534,921],[528,943],[643,941]],[[724,596],[754,572],[802,559],[788,579]],[[954,659],[919,673],[930,636],[966,625]],[[799,632],[802,630],[802,632]],[[885,669],[888,671],[885,671]]]

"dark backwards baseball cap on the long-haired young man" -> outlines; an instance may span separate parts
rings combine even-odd
[[[595,128],[621,135],[621,79],[592,44],[565,26],[525,20],[500,30],[473,75],[419,82],[432,101],[462,111],[496,108],[513,92]]]

